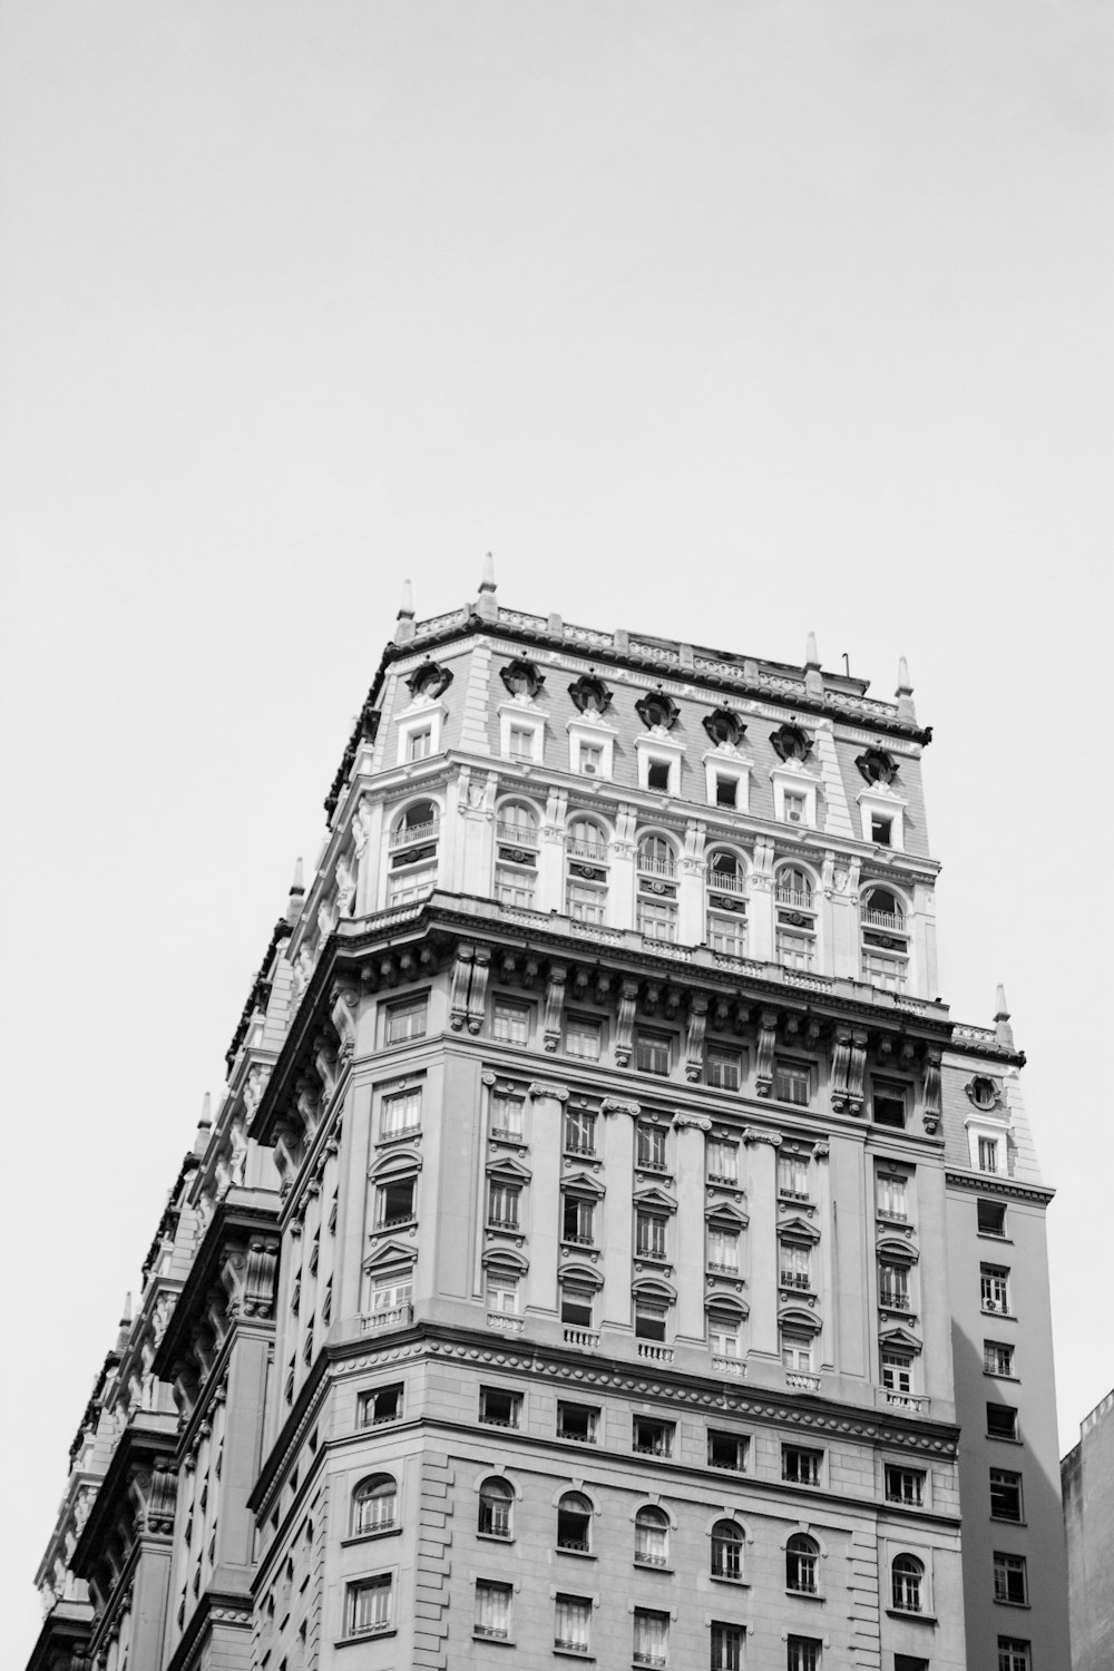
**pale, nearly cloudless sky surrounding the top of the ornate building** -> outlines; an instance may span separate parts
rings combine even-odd
[[[436,613],[488,548],[504,605],[815,628],[884,697],[909,657],[940,989],[989,1024],[1005,981],[1061,1191],[1074,1442],[1114,1384],[1112,130],[1104,0],[0,5],[13,1664],[401,580]]]

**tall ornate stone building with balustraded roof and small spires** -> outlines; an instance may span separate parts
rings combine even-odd
[[[33,1671],[1064,1671],[1051,1191],[1004,1001],[934,996],[929,737],[812,640],[403,608]]]

